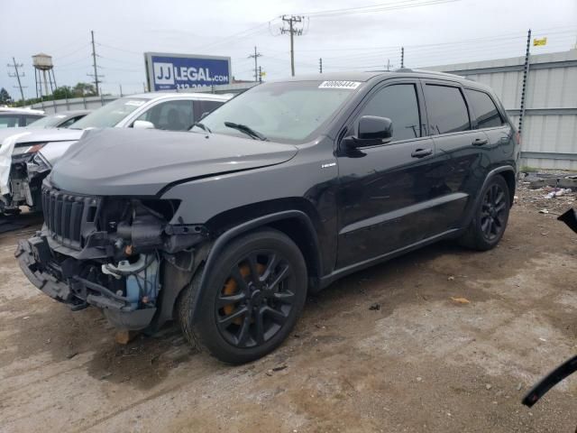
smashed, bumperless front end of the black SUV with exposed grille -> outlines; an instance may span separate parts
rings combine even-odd
[[[121,329],[160,327],[200,262],[203,226],[170,224],[178,200],[70,194],[45,180],[44,226],[15,253],[32,283]]]

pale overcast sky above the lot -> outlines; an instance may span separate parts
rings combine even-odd
[[[23,63],[26,97],[35,96],[33,54],[53,56],[58,85],[89,81],[95,31],[105,92],[142,90],[144,51],[230,56],[235,78],[252,79],[254,46],[267,78],[290,74],[289,36],[279,15],[303,14],[295,38],[296,72],[382,69],[390,61],[424,67],[524,55],[527,29],[547,37],[532,53],[566,51],[577,42],[575,0],[2,0],[0,88],[16,98],[6,67]],[[426,3],[428,5],[417,5]],[[435,4],[436,3],[436,4]],[[432,5],[433,4],[433,5]],[[342,11],[380,5],[378,10]],[[411,7],[401,7],[408,6]]]

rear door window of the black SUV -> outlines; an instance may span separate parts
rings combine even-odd
[[[461,89],[427,84],[425,100],[431,134],[457,133],[471,129],[469,111]]]

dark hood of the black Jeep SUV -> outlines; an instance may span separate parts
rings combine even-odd
[[[56,163],[50,182],[96,196],[151,196],[180,180],[289,161],[296,146],[222,134],[92,130]]]

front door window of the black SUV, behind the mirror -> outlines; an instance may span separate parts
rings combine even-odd
[[[361,115],[389,117],[393,123],[393,140],[421,136],[417,90],[413,84],[395,84],[377,91],[362,108]]]

